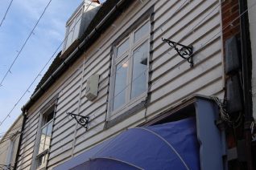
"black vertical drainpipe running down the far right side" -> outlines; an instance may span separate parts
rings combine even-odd
[[[241,28],[241,46],[242,46],[242,76],[243,76],[243,98],[245,111],[244,134],[246,138],[246,160],[247,168],[253,170],[252,152],[251,152],[251,132],[250,124],[253,121],[252,112],[252,94],[251,94],[251,79],[252,79],[252,56],[250,44],[249,19],[246,0],[239,0],[239,13]],[[243,14],[246,11],[245,14]]]

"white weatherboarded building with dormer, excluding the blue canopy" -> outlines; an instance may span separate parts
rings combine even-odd
[[[236,146],[233,136],[226,146],[221,124],[243,109],[229,104],[224,111],[222,103],[242,99],[233,96],[240,88],[230,78],[240,65],[227,57],[237,50],[230,50],[237,41],[232,37],[240,36],[237,6],[219,0],[83,2],[67,22],[64,50],[23,107],[16,168],[76,167],[76,156],[126,129],[192,116],[200,168],[224,169],[226,148]]]

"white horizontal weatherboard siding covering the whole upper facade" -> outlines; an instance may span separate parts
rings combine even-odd
[[[184,6],[180,8],[182,4]],[[121,123],[104,129],[112,44],[151,6],[154,6],[155,15],[152,23],[154,34],[151,37],[150,105],[147,112],[143,109]],[[180,10],[175,12],[179,8]],[[50,169],[126,128],[137,126],[146,118],[150,119],[189,95],[217,95],[222,99],[224,82],[222,42],[221,34],[218,34],[220,32],[221,14],[218,0],[135,1],[30,108],[25,129],[27,135],[23,136],[21,153],[27,154],[20,158],[19,169],[29,168],[27,164],[31,164],[39,110],[52,98],[50,96],[57,93],[59,99],[47,164]],[[167,43],[162,42],[162,37],[184,45],[192,44],[196,51],[193,58],[194,67],[191,68],[187,62],[180,63],[180,56],[174,49],[171,50]],[[89,101],[85,98],[86,80],[94,74],[100,75],[99,94],[97,99]],[[68,118],[66,112],[89,115],[88,132],[74,119]]]

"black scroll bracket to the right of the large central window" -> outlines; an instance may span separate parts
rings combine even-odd
[[[162,38],[163,42],[167,42],[167,44],[171,47],[174,48],[175,51],[177,51],[178,55],[182,57],[183,59],[186,59],[188,63],[190,63],[190,67],[194,66],[193,63],[193,47],[192,46],[184,46],[178,42],[173,42],[169,39]]]

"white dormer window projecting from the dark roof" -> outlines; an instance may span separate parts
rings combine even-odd
[[[66,51],[76,39],[84,34],[94,15],[97,14],[99,6],[101,6],[99,2],[89,0],[84,0],[84,2],[78,6],[66,24],[63,51]]]

